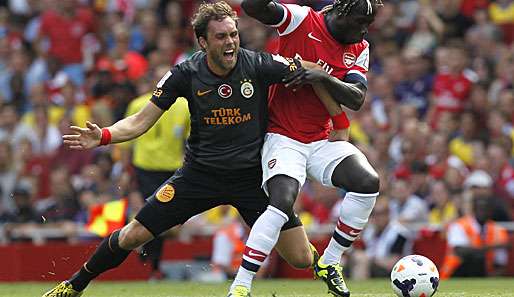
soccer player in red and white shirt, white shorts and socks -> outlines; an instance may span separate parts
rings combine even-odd
[[[379,0],[335,0],[316,12],[271,0],[244,0],[245,12],[277,28],[279,53],[322,66],[306,70],[295,88],[274,87],[262,151],[263,188],[270,205],[252,227],[243,262],[228,296],[250,296],[253,276],[275,246],[306,178],[346,191],[340,217],[314,273],[334,296],[350,296],[340,260],[368,221],[379,178],[368,160],[347,141],[328,141],[330,116],[311,83],[321,83],[339,104],[358,110],[367,90],[369,44],[364,40]],[[289,88],[288,88],[289,87]]]

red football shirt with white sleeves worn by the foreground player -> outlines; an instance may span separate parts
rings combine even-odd
[[[330,35],[323,15],[307,6],[282,4],[283,20],[275,27],[280,36],[279,54],[317,63],[332,76],[343,79],[358,74],[366,80],[369,44],[362,41],[342,45]],[[293,92],[275,85],[270,93],[268,132],[303,143],[326,139],[330,115],[311,86]]]

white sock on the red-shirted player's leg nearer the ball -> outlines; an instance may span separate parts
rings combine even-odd
[[[323,252],[322,264],[337,264],[341,261],[343,253],[351,247],[366,226],[377,196],[378,193],[346,193],[334,234]]]

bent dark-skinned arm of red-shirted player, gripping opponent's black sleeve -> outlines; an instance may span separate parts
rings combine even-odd
[[[351,110],[359,110],[366,98],[366,86],[361,82],[344,82],[323,70],[303,69],[284,78],[286,87],[321,83],[330,96],[339,104]]]

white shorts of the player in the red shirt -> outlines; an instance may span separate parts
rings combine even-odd
[[[346,157],[364,154],[347,141],[320,140],[302,143],[287,136],[267,133],[262,148],[262,187],[266,194],[266,182],[275,175],[287,175],[300,183],[313,179],[324,186],[334,187],[332,174]]]

